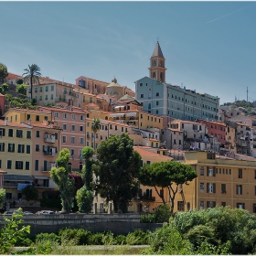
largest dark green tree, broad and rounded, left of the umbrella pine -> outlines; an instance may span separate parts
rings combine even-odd
[[[92,165],[96,190],[106,203],[112,201],[114,212],[127,212],[139,189],[141,155],[133,150],[133,140],[127,133],[111,135],[98,147],[97,159]]]

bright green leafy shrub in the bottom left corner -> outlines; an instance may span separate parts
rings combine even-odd
[[[23,223],[22,209],[18,209],[17,214],[13,214],[11,219],[5,218],[5,226],[0,229],[0,254],[6,254],[10,248],[16,244],[20,237],[25,237],[30,233],[30,226],[21,226]]]

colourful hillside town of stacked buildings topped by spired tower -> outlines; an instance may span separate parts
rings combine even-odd
[[[167,83],[158,41],[148,69],[148,76],[133,78],[135,91],[119,84],[118,77],[102,81],[81,74],[68,83],[43,76],[27,80],[8,70],[0,80],[5,210],[40,207],[39,200],[24,198],[22,190],[29,185],[36,187],[39,199],[45,191],[57,190],[50,170],[61,150],[69,150],[69,167],[79,176],[85,146],[97,151],[112,135],[126,133],[142,157],[141,166],[175,161],[196,170],[195,179],[178,187],[175,212],[230,206],[256,213],[256,115],[221,106],[221,95]],[[20,85],[26,85],[23,94]],[[14,97],[35,102],[32,108],[18,106]],[[171,200],[166,187],[158,194],[155,187],[141,185],[128,211],[154,212],[163,197]],[[92,213],[113,209],[112,202],[93,195]]]

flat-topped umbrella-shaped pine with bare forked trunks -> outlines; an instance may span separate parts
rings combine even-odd
[[[169,161],[144,165],[139,179],[144,186],[155,187],[157,195],[162,198],[164,204],[165,197],[160,194],[160,188],[166,187],[170,198],[171,212],[173,213],[178,185],[188,185],[188,182],[196,177],[197,172],[190,165]]]

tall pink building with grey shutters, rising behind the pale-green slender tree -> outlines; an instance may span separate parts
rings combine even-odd
[[[67,148],[70,152],[72,169],[80,171],[82,168],[81,151],[85,146],[86,113],[77,107],[38,107],[38,111],[51,113],[51,120],[62,129],[60,149]]]

